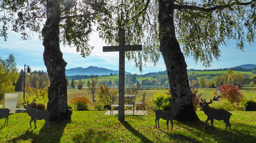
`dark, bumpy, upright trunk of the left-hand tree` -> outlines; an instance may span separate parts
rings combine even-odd
[[[47,109],[51,112],[50,121],[71,120],[72,111],[67,103],[67,80],[59,47],[60,4],[58,0],[47,1],[47,20],[42,28],[44,37],[44,61],[50,77]]]

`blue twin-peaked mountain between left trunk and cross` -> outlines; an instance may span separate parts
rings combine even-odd
[[[99,68],[99,67],[93,67],[90,66],[88,68],[72,68],[72,69],[66,69],[66,75],[72,76],[72,75],[110,75],[110,74],[119,74],[119,71],[110,70],[106,68]],[[130,72],[126,72],[125,74],[132,74]]]

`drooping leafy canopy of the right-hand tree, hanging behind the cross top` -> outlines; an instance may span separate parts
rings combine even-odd
[[[160,58],[158,2],[108,1],[113,7],[112,18],[100,21],[98,30],[105,42],[118,44],[118,29],[126,30],[127,44],[142,44],[142,51],[127,51],[126,58],[134,60],[142,70],[145,62],[156,64]],[[255,39],[255,1],[174,1],[174,19],[177,40],[186,56],[209,67],[220,58],[220,46],[228,40],[237,41],[243,50],[244,43]],[[114,40],[113,40],[114,39]],[[140,62],[143,61],[143,62]]]

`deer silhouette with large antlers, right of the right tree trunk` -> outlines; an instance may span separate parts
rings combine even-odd
[[[226,123],[226,129],[227,127],[229,127],[229,130],[230,130],[231,125],[229,123],[229,119],[232,116],[232,113],[223,109],[215,109],[215,108],[209,107],[209,104],[211,104],[212,101],[218,101],[218,98],[219,97],[217,98],[214,97],[214,99],[212,100],[210,99],[210,102],[206,102],[205,99],[203,100],[201,98],[202,103],[199,103],[199,104],[203,108],[205,115],[207,115],[207,119],[205,121],[205,124],[206,124],[205,128],[207,129],[207,122],[209,120],[211,122],[212,129],[214,129],[214,120],[223,120]]]

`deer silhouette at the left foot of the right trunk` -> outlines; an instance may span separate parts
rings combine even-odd
[[[177,103],[174,103],[172,99],[169,97],[169,102],[170,106],[172,107],[172,110],[155,110],[155,123],[156,123],[156,128],[157,128],[157,123],[158,123],[158,128],[159,128],[159,119],[162,118],[163,120],[166,120],[166,125],[167,125],[167,130],[169,130],[169,121],[172,124],[172,129],[173,130],[173,119],[176,117],[177,113],[179,112],[179,105]]]

